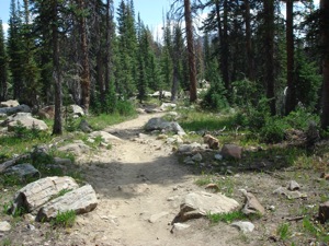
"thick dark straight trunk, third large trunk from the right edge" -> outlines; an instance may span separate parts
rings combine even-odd
[[[264,23],[265,23],[265,81],[266,97],[271,115],[276,114],[275,109],[275,80],[274,80],[274,0],[264,0]]]

